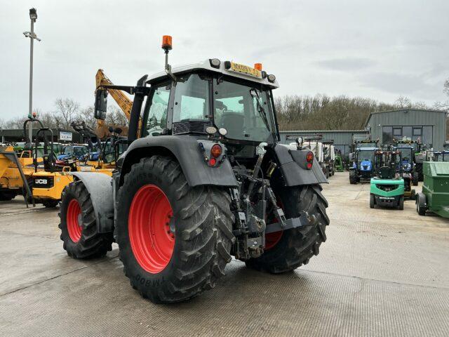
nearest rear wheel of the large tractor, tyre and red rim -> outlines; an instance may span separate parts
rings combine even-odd
[[[156,155],[133,164],[117,200],[120,259],[141,296],[188,300],[225,275],[235,241],[225,190],[189,187],[175,159]]]

